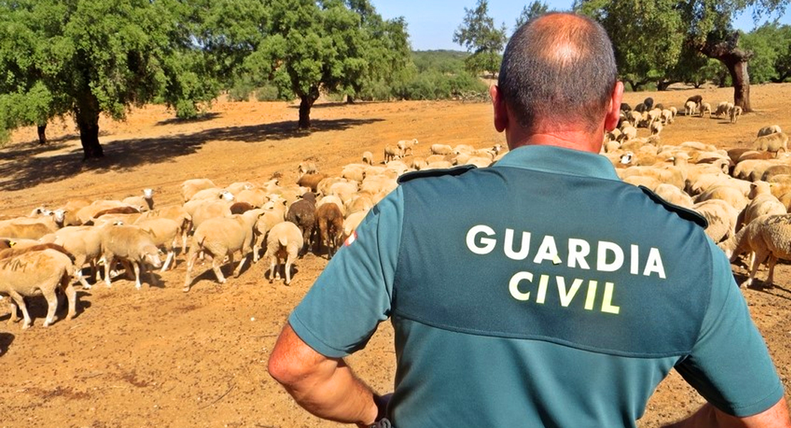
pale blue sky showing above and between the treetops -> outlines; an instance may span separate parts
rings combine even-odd
[[[404,17],[414,51],[451,49],[464,51],[464,47],[453,43],[453,32],[464,21],[464,8],[473,9],[477,0],[371,0],[385,19]],[[489,0],[489,15],[496,25],[505,23],[507,31],[513,32],[517,17],[522,8],[532,0],[515,2],[513,0]],[[544,0],[550,9],[568,10],[573,0]],[[764,20],[766,21],[766,20]],[[791,24],[791,11],[780,18],[782,24]],[[759,25],[763,21],[759,22]],[[734,26],[745,32],[755,28],[748,10],[736,18]]]

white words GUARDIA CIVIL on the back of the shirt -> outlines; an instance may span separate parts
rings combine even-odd
[[[475,225],[467,231],[467,248],[479,256],[486,256],[500,248],[503,254],[509,259],[525,260],[531,256],[531,250],[535,249],[532,256],[532,263],[539,265],[541,263],[550,262],[553,264],[562,264],[563,261],[558,256],[558,243],[551,235],[545,235],[541,238],[541,243],[538,248],[531,246],[532,233],[523,231],[521,233],[521,240],[519,248],[514,248],[514,235],[513,229],[505,229],[505,236],[498,237],[498,233],[488,225]],[[641,266],[640,248],[638,245],[631,244],[629,247],[629,263],[626,264],[626,253],[619,244],[609,241],[597,241],[596,248],[592,248],[591,243],[582,239],[569,238],[566,242],[566,266],[572,269],[581,269],[583,271],[592,270],[592,263],[589,259],[595,254],[596,263],[593,269],[598,272],[616,272],[623,269],[628,269],[630,275],[651,276],[656,275],[658,278],[667,278],[664,274],[664,264],[662,263],[662,256],[658,248],[650,248],[648,255],[645,256],[645,263]],[[530,288],[524,286],[524,282],[529,282],[535,286],[536,278],[538,278],[537,287]],[[534,275],[532,272],[519,271],[514,274],[509,280],[508,288],[511,297],[518,301],[530,301],[532,297],[532,290],[536,291],[534,301],[543,305],[547,301],[547,293],[550,292],[551,275]],[[557,288],[558,298],[563,307],[568,307],[574,301],[577,295],[585,284],[584,278],[573,278],[570,282],[560,275],[554,275],[554,283]],[[618,314],[620,307],[613,303],[615,295],[615,283],[604,282],[604,286],[596,280],[588,280],[585,290],[585,304],[586,310],[592,311],[596,309],[596,301],[600,301],[600,312]],[[531,290],[531,291],[525,291]],[[598,298],[601,292],[600,299]]]

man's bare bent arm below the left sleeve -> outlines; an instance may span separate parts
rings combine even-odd
[[[313,415],[336,422],[371,426],[377,398],[354,376],[343,358],[319,354],[286,324],[269,358],[269,373]]]

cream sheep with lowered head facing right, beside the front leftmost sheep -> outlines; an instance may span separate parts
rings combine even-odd
[[[104,225],[100,230],[102,259],[104,259],[104,282],[111,286],[110,268],[119,259],[127,267],[134,269],[134,288],[140,290],[140,271],[146,264],[154,268],[162,266],[161,252],[148,232],[135,225]],[[149,272],[150,283],[156,284],[153,271]]]

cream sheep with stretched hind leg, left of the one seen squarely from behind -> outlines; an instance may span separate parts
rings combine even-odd
[[[218,282],[225,283],[225,276],[220,269],[228,256],[229,263],[233,265],[233,254],[240,252],[241,258],[233,277],[239,276],[244,263],[247,261],[254,242],[253,226],[259,216],[264,213],[261,208],[249,210],[244,214],[234,214],[225,218],[210,218],[195,228],[192,236],[193,244],[187,255],[187,276],[184,278],[184,291],[190,290],[192,285],[192,269],[195,259],[200,252],[206,252],[212,257],[211,268]]]

